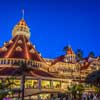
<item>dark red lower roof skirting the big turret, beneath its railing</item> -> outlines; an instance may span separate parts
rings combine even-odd
[[[17,72],[17,75],[18,75],[18,72],[20,71],[19,68],[16,68],[16,67],[0,67],[0,76],[7,76],[7,75],[14,75],[16,72]],[[19,76],[21,75],[21,73],[19,72]],[[28,73],[26,73],[27,76],[32,76],[32,77],[52,77],[52,78],[55,78],[54,75],[46,72],[46,71],[43,71],[43,70],[39,70],[39,69],[33,69],[33,70],[30,70]]]

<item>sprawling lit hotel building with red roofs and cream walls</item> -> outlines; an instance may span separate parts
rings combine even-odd
[[[25,97],[33,100],[49,100],[51,94],[66,92],[72,83],[84,83],[85,77],[100,65],[99,58],[91,57],[84,58],[79,64],[71,46],[65,55],[43,58],[30,42],[30,29],[24,19],[14,26],[12,38],[0,48],[0,82],[11,78],[10,81],[15,82],[11,86],[13,89],[21,88],[20,71],[14,76],[20,67],[17,63],[25,63],[31,68],[25,73]]]

